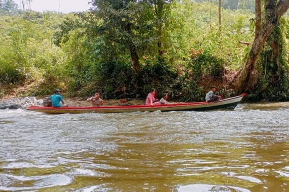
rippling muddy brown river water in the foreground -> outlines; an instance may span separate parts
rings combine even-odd
[[[289,109],[0,110],[0,191],[289,191]]]

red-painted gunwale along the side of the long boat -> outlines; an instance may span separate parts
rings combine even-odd
[[[146,108],[173,108],[173,107],[186,107],[186,106],[195,106],[195,105],[206,105],[206,104],[215,104],[215,103],[220,103],[220,102],[225,102],[228,100],[233,100],[237,99],[240,97],[244,97],[243,95],[238,95],[236,97],[232,98],[227,98],[224,100],[216,101],[216,102],[194,102],[194,103],[177,103],[177,104],[168,104],[168,105],[153,105],[153,106],[148,106],[148,105],[130,105],[130,106],[106,106],[106,107],[39,107],[39,106],[31,106],[28,107],[27,110],[102,110],[102,109],[146,109]]]

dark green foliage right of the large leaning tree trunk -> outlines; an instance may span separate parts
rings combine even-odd
[[[288,81],[288,25],[282,18],[263,49],[259,62],[259,83],[249,95],[252,101],[286,101],[289,99]]]

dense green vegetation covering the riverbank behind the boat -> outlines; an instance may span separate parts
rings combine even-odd
[[[224,92],[244,66],[250,46],[239,41],[254,40],[255,16],[254,6],[224,1],[220,27],[217,3],[95,0],[91,11],[78,14],[3,6],[0,86],[36,95],[62,88],[67,97],[100,91],[104,98],[143,98],[155,87],[194,101],[204,99],[210,84]],[[264,47],[251,100],[288,99],[288,26],[283,18],[271,38],[281,42],[279,68],[270,44]]]

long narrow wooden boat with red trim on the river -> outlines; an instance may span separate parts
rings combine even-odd
[[[29,111],[43,113],[63,114],[63,113],[128,113],[137,111],[207,111],[215,109],[235,109],[238,103],[245,97],[241,94],[237,97],[220,100],[218,102],[197,102],[197,103],[178,103],[169,105],[131,105],[131,106],[107,106],[107,107],[39,107],[31,106]]]

